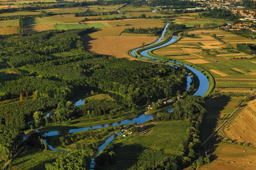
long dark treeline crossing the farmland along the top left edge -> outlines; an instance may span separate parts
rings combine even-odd
[[[82,6],[91,6],[91,5],[102,5],[102,6],[108,6],[108,5],[119,5],[119,4],[125,4],[129,3],[129,0],[110,0],[110,1],[104,1],[104,0],[97,0],[97,1],[84,1],[84,2],[75,2],[75,3],[61,3],[61,4],[54,4],[54,5],[45,5],[45,6],[26,6],[21,8],[8,8],[8,9],[1,9],[0,14],[2,13],[13,13],[18,11],[31,11],[35,12],[38,9],[54,9],[54,8],[75,8],[75,7],[82,7]]]

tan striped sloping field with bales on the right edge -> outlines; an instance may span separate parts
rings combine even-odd
[[[256,145],[256,96],[240,109],[224,129],[229,139]]]

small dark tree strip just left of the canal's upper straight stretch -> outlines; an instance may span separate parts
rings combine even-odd
[[[155,36],[161,35],[163,28],[125,28],[123,33],[133,33],[133,34],[154,34]]]

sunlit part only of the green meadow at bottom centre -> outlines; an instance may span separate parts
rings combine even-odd
[[[129,145],[136,145],[138,147],[138,151],[142,150],[142,148],[150,148],[152,150],[162,150],[164,153],[176,154],[176,149],[179,143],[183,140],[188,124],[189,123],[187,121],[157,123],[152,128],[152,131],[148,132],[146,135],[118,137],[113,143],[115,145],[127,147],[129,147]],[[123,152],[127,151],[117,152],[117,154],[122,155]]]

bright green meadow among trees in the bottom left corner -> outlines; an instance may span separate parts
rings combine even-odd
[[[66,153],[56,151],[42,151],[26,148],[12,163],[13,169],[18,170],[45,170],[46,163],[52,163],[56,158]]]

